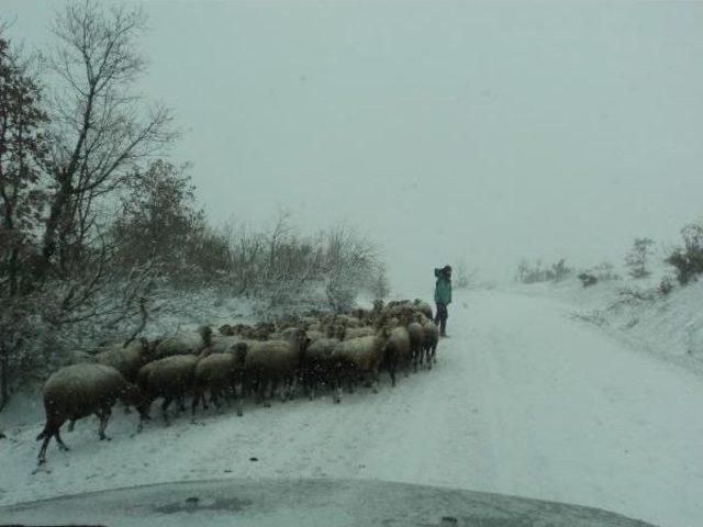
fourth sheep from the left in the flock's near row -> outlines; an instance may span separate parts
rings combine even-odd
[[[272,395],[281,382],[284,384],[284,389],[280,392],[281,401],[286,401],[294,390],[308,344],[305,332],[299,328],[286,329],[281,339],[249,344],[245,375],[249,388],[256,390],[257,401],[263,401],[265,406],[270,406],[266,401],[266,389],[270,385]]]

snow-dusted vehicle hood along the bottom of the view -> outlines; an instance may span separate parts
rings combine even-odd
[[[652,527],[605,511],[364,480],[160,483],[0,507],[1,524],[169,526]]]

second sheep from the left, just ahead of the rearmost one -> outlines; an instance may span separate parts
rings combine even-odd
[[[179,402],[180,410],[185,410],[183,396],[193,389],[196,367],[201,357],[192,354],[165,357],[143,366],[137,373],[137,384],[149,405],[156,399],[164,397],[161,413],[166,424],[169,423],[168,406],[174,399]],[[140,430],[142,426],[143,423],[140,422]]]

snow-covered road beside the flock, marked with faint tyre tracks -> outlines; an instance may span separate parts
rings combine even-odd
[[[663,527],[703,525],[703,381],[572,321],[558,301],[457,295],[431,372],[379,394],[153,424],[110,444],[79,423],[32,474],[32,427],[0,444],[0,504],[223,478],[360,478],[576,503]],[[253,461],[252,458],[256,458]]]

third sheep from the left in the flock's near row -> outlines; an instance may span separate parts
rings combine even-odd
[[[236,385],[243,381],[247,348],[246,343],[238,341],[233,344],[226,352],[210,354],[198,362],[194,372],[194,394],[191,405],[191,414],[193,416],[201,397],[203,408],[208,408],[204,401],[205,390],[210,390],[211,402],[215,404],[217,410],[220,408],[220,394],[224,393],[227,404],[230,395],[234,395],[237,399],[237,415],[243,414],[242,397],[236,397]]]

